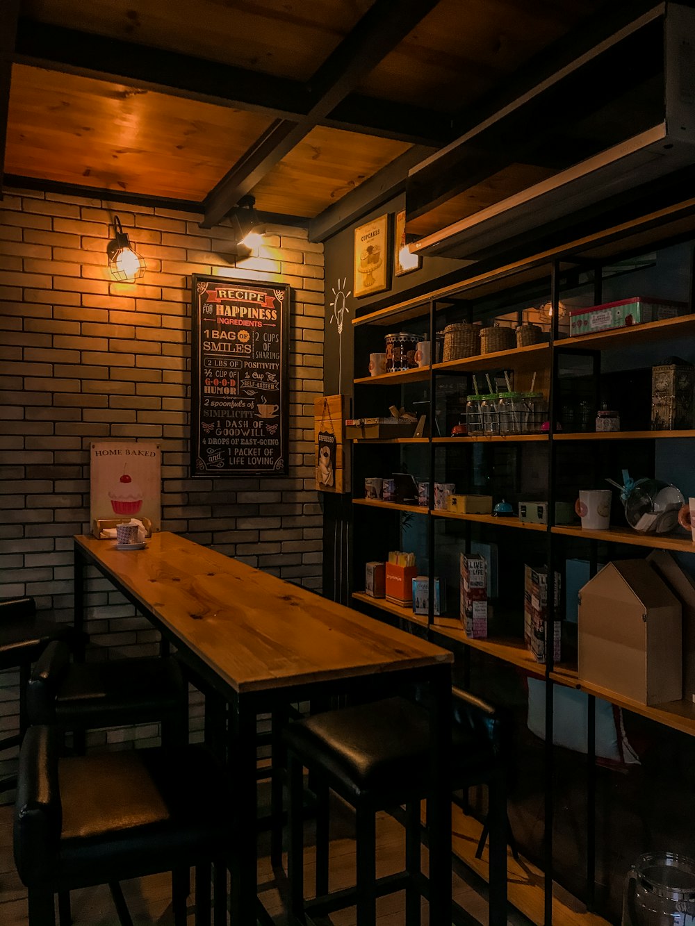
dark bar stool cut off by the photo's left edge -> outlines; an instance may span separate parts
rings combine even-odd
[[[69,624],[36,617],[36,604],[29,595],[0,599],[0,670],[19,669],[19,733],[0,740],[0,751],[21,744],[29,726],[27,686],[32,662],[51,641],[62,640],[72,646],[83,645],[86,634],[78,634]],[[17,776],[0,780],[0,792],[17,784]]]

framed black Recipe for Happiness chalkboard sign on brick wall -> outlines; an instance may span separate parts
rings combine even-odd
[[[290,288],[193,274],[191,473],[284,476]]]

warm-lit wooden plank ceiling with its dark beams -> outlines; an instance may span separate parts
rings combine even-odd
[[[158,197],[208,226],[250,193],[325,237],[603,3],[4,0],[6,182]]]

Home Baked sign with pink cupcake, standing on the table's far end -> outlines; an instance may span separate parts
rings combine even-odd
[[[161,448],[151,441],[94,441],[90,447],[90,519],[95,537],[139,520],[161,524]]]

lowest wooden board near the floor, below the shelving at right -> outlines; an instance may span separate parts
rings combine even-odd
[[[482,857],[475,857],[483,831],[482,825],[470,814],[463,813],[456,804],[451,806],[451,848],[461,861],[488,881],[488,846],[486,844]],[[519,856],[515,861],[510,849],[507,849],[507,891],[509,902],[524,916],[542,926],[545,922],[543,886],[545,876],[527,858]],[[588,913],[587,908],[576,897],[565,891],[559,884],[552,885],[552,920],[560,926],[609,926],[608,920],[602,920],[595,913]]]

